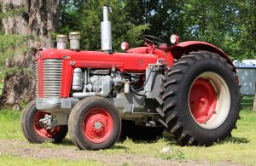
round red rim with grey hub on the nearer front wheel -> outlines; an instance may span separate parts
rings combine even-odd
[[[103,108],[93,108],[84,116],[83,129],[85,137],[93,143],[108,140],[113,131],[113,119]]]

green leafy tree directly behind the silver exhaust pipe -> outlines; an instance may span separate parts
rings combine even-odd
[[[69,2],[69,3],[67,3]],[[129,4],[125,0],[108,1],[66,1],[61,7],[61,27],[58,31],[68,34],[71,31],[81,32],[81,49],[101,49],[101,21],[102,6],[111,6],[113,13],[109,14],[112,22],[113,49],[119,50],[123,41],[130,43],[131,47],[137,46],[142,41],[143,31],[148,29],[146,24],[135,24],[130,19],[131,11],[126,9]]]

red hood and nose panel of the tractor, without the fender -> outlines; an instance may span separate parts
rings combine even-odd
[[[145,72],[149,64],[157,62],[155,54],[115,53],[107,54],[95,51],[72,51],[67,49],[47,49],[36,54],[38,66],[44,66],[44,60],[62,60],[61,98],[70,95],[74,68],[118,69],[120,72]],[[43,70],[42,70],[43,71]],[[40,73],[38,73],[40,74]],[[44,80],[44,77],[41,76]],[[42,87],[38,85],[38,87]],[[43,89],[38,97],[44,97]]]

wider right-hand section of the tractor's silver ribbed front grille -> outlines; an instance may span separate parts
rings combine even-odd
[[[44,97],[60,97],[62,60],[44,60]]]

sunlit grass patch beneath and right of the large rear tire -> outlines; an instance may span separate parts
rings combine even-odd
[[[233,130],[233,137],[224,140],[214,146],[177,146],[175,142],[160,139],[154,143],[135,143],[126,140],[124,146],[117,150],[104,150],[107,153],[132,153],[146,156],[161,157],[164,159],[176,159],[179,161],[198,160],[211,161],[231,161],[232,163],[256,163],[256,112],[241,112],[241,120],[237,123],[238,129]],[[163,154],[160,150],[169,146],[171,152]],[[150,151],[148,151],[150,148]]]

